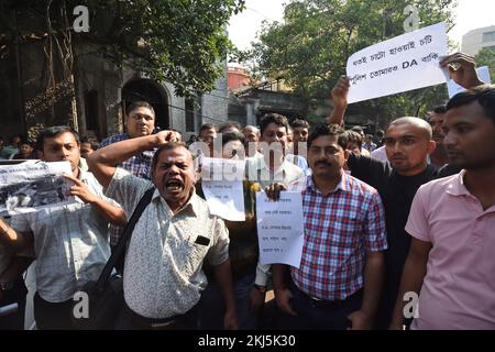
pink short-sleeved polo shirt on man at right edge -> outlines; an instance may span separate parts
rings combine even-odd
[[[406,231],[431,242],[411,329],[495,329],[495,206],[483,210],[459,175],[421,186]]]

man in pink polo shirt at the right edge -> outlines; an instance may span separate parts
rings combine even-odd
[[[402,299],[419,294],[411,329],[495,329],[495,87],[454,96],[443,118],[449,162],[458,175],[421,186],[406,231],[411,245],[392,329],[404,323]]]

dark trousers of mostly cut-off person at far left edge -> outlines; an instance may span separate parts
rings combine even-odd
[[[16,304],[18,309],[7,316],[0,317],[0,330],[24,330],[25,295],[28,294],[28,289],[25,288],[22,276],[15,280],[12,289],[2,294],[3,297],[0,300],[0,307]]]

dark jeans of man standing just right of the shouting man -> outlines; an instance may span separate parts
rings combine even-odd
[[[241,330],[255,330],[257,317],[250,311],[249,297],[254,285],[255,273],[250,273],[233,282],[235,312]],[[199,300],[199,329],[223,330],[226,305],[217,283],[210,282]]]

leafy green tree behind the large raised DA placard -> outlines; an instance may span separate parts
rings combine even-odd
[[[324,99],[352,53],[404,33],[409,3],[419,11],[420,26],[441,21],[452,26],[453,0],[293,0],[283,23],[265,24],[249,57],[257,75],[282,76],[308,99]],[[420,114],[446,98],[446,88],[435,87],[351,107],[383,119]]]

